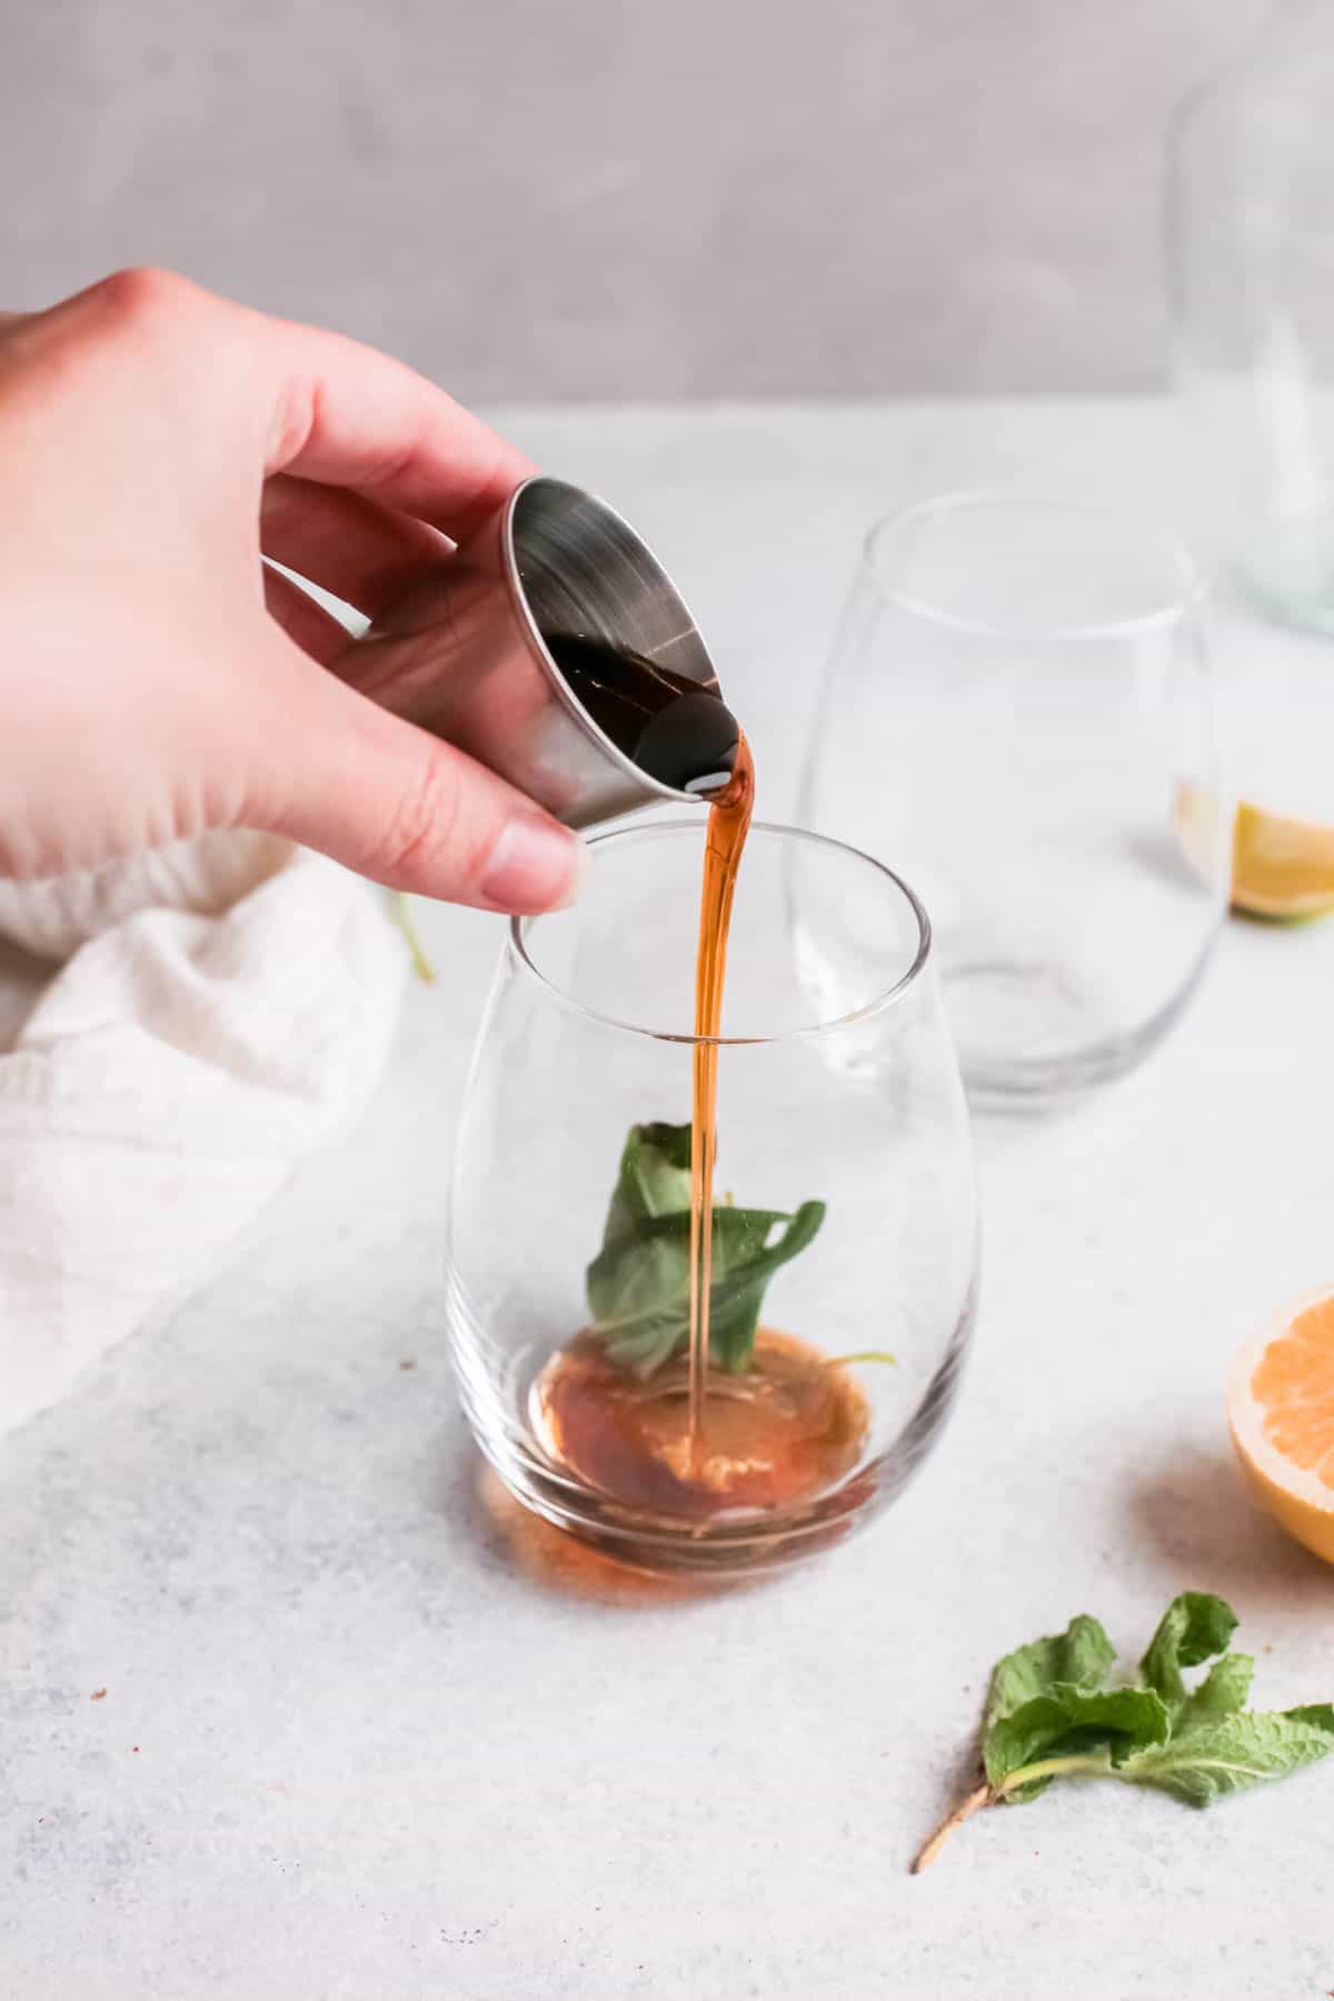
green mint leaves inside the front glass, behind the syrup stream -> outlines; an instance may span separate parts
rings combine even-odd
[[[816,1237],[824,1203],[714,1209],[708,1355],[750,1367],[764,1291]],[[780,1231],[774,1237],[774,1231]],[[648,1377],[690,1341],[690,1127],[640,1125],[626,1139],[602,1251],[588,1267],[592,1331],[608,1357]]]

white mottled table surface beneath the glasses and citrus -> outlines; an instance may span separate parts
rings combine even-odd
[[[1148,402],[508,420],[678,574],[770,816],[876,512],[988,482],[1180,512]],[[1330,710],[1290,690],[1334,658],[1242,636],[1244,762],[1280,782],[1316,738],[1328,772]],[[906,1875],[992,1659],[1076,1611],[1138,1655],[1174,1591],[1214,1589],[1262,1701],[1334,1695],[1334,1573],[1252,1513],[1222,1411],[1232,1347],[1334,1279],[1334,924],[1232,924],[1132,1081],[980,1129],[982,1321],[940,1449],[860,1541],[702,1601],[612,1597],[480,1491],[438,1245],[498,934],[424,928],[444,976],[362,1127],[0,1445],[0,1993],[1334,1989],[1334,1769],[1208,1815],[1070,1787]]]

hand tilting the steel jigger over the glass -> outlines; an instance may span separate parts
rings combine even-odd
[[[428,896],[568,900],[574,836],[354,692],[342,626],[260,562],[374,616],[530,470],[398,362],[164,272],[6,316],[0,874],[258,826]]]

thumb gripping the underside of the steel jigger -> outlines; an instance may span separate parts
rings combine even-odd
[[[290,640],[276,650],[252,822],[444,902],[516,916],[574,902],[582,846],[566,826]]]

